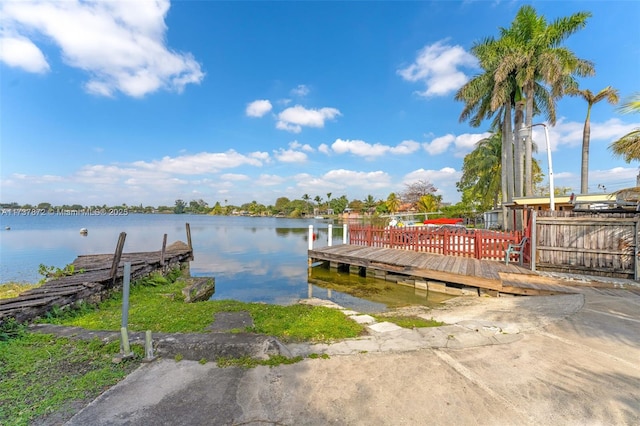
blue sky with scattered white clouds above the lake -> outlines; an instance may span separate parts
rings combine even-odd
[[[640,90],[636,1],[4,1],[0,201],[268,205],[426,180],[457,202],[489,123],[460,123],[454,94],[480,72],[473,44],[523,4],[591,12],[565,43],[595,63],[581,87]],[[578,192],[586,103],[557,111],[555,184]],[[591,120],[590,192],[634,186],[638,165],[607,147],[640,116],[601,102]]]

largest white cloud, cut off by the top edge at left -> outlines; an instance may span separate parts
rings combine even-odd
[[[67,65],[87,72],[89,93],[142,97],[159,89],[182,92],[204,78],[191,54],[165,45],[168,10],[168,0],[68,0],[4,2],[1,13],[5,28],[23,38],[47,37]]]

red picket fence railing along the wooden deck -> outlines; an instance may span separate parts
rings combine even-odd
[[[349,225],[349,244],[352,245],[398,248],[500,261],[504,260],[505,250],[509,244],[519,243],[521,239],[522,233],[519,231]]]

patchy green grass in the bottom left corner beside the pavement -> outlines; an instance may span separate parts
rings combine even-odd
[[[27,332],[0,342],[0,424],[27,425],[52,414],[67,419],[74,403],[86,404],[138,365],[114,364],[119,350],[118,342]],[[142,349],[135,350],[140,357]]]

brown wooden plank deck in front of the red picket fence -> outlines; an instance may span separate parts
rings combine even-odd
[[[382,279],[388,279],[389,274],[402,275],[414,277],[414,281],[433,280],[471,287],[478,292],[548,295],[574,291],[564,281],[494,260],[350,244],[309,250],[308,255],[312,262],[330,262],[337,268],[345,265],[361,268],[358,272],[361,275]],[[370,270],[378,272],[372,274]]]

